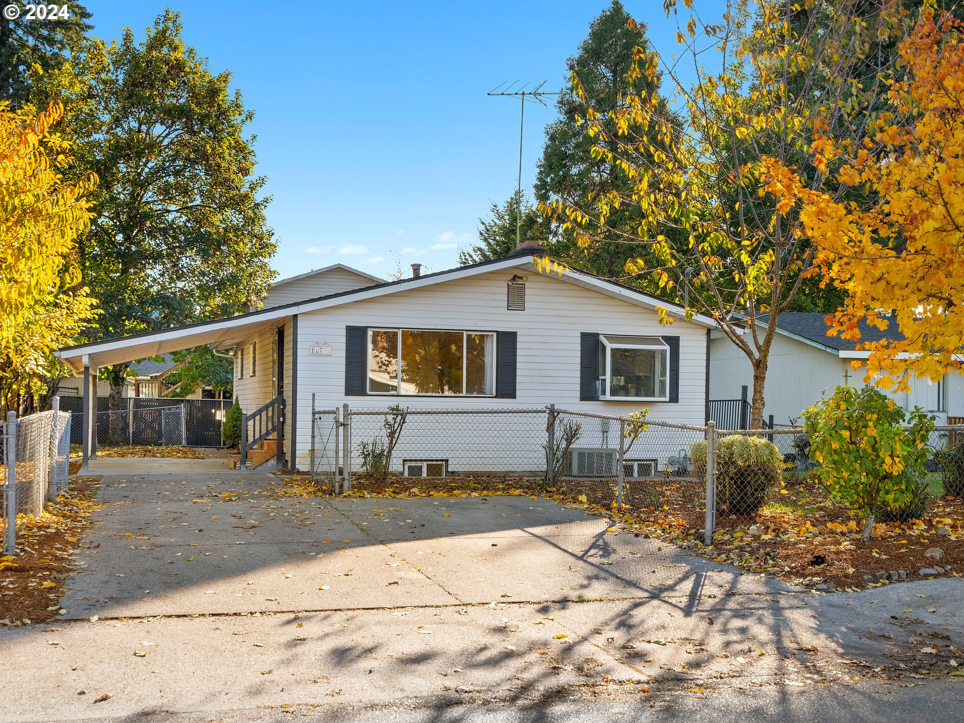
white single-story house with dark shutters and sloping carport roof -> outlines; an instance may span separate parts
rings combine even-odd
[[[284,400],[284,453],[298,469],[308,466],[312,397],[317,409],[646,407],[655,419],[703,424],[715,322],[687,321],[683,308],[575,269],[542,274],[533,256],[544,254],[524,244],[505,258],[381,283],[328,267],[276,284],[263,309],[58,356],[89,374],[179,348],[232,347],[243,411]],[[335,282],[357,285],[330,291]],[[657,308],[673,323],[661,325]]]

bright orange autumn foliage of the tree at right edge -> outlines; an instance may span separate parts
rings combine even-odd
[[[766,163],[766,188],[798,209],[824,282],[847,293],[828,316],[829,333],[859,339],[866,320],[896,337],[861,345],[871,352],[866,381],[883,388],[906,390],[912,374],[936,381],[962,365],[962,32],[951,14],[925,8],[883,79],[887,102],[864,142],[817,133],[814,157],[839,168],[843,199],[808,188],[776,159]]]

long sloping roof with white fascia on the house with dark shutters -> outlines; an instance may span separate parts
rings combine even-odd
[[[55,354],[63,359],[74,371],[80,372],[85,365],[106,366],[126,362],[131,359],[144,359],[149,356],[166,354],[193,346],[207,345],[215,349],[225,349],[229,346],[235,346],[251,335],[276,325],[279,320],[295,314],[335,307],[362,299],[374,299],[397,291],[431,286],[442,281],[466,279],[500,269],[519,268],[526,272],[539,273],[539,268],[533,261],[532,256],[537,255],[541,257],[544,255],[543,252],[541,250],[521,251],[522,253],[512,254],[506,258],[496,258],[491,261],[482,261],[454,269],[438,271],[434,274],[423,274],[422,276],[400,279],[398,281],[386,281],[373,286],[363,286],[362,288],[352,289],[350,291],[341,291],[335,294],[329,294],[328,296],[306,299],[278,307],[262,308],[257,311],[238,314],[237,316],[229,316],[225,319],[202,321],[196,324],[173,327],[158,332],[120,336],[112,339],[103,339],[101,341],[92,341],[87,344],[68,346],[55,352]],[[685,309],[678,304],[658,299],[655,296],[645,294],[642,291],[638,291],[617,281],[600,279],[576,268],[570,268],[568,272],[561,273],[557,277],[553,274],[553,277],[558,278],[560,281],[593,289],[603,295],[621,299],[641,308],[648,308],[650,310],[665,308],[668,316],[672,319],[684,321],[686,318]],[[693,316],[689,321],[690,323],[707,329],[715,329],[717,327],[713,319],[702,314]]]

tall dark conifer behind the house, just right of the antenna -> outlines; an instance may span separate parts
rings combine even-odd
[[[576,56],[568,61],[570,73],[578,77],[586,98],[580,100],[567,83],[556,101],[559,119],[546,129],[546,145],[535,182],[536,200],[540,203],[559,200],[584,208],[593,205],[594,195],[603,190],[618,186],[629,192],[632,188],[631,180],[624,174],[613,173],[611,164],[593,158],[590,151],[599,139],[589,138],[585,128],[576,120],[586,105],[613,109],[619,107],[621,99],[627,96],[630,85],[627,73],[632,67],[633,48],[649,48],[645,29],[642,26],[630,29],[629,19],[622,3],[613,0],[612,5],[590,24],[589,35],[579,45]],[[637,79],[637,92],[641,84],[647,86],[648,93],[658,94],[658,79]],[[611,121],[603,122],[611,125]],[[575,233],[563,231],[559,228],[561,224],[555,224],[552,254],[599,276],[622,279],[642,287],[651,286],[648,278],[633,278],[626,271],[627,259],[640,254],[640,248],[631,236],[640,214],[626,210],[628,212],[620,214],[618,225],[607,229],[605,238],[594,243],[591,253],[578,247]],[[628,238],[623,236],[624,229],[630,233]],[[671,229],[660,232],[666,235],[677,233]]]

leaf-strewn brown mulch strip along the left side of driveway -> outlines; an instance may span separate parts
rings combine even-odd
[[[16,535],[16,554],[0,558],[0,625],[30,625],[62,609],[60,585],[91,523],[100,477],[70,477],[69,490]]]

